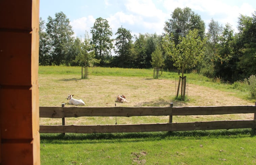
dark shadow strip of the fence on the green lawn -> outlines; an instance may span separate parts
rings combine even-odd
[[[203,137],[209,138],[238,138],[242,136],[254,137],[252,129],[231,129],[231,130],[207,130],[207,131],[176,131],[176,132],[146,132],[146,133],[97,133],[97,134],[40,134],[41,140],[46,140],[53,143],[62,143],[67,140],[76,143],[79,140],[121,140],[131,139],[131,141],[145,141],[145,140],[161,140],[161,139],[201,139]],[[57,140],[57,141],[55,141]],[[61,140],[61,141],[58,141]],[[97,141],[99,142],[99,141]]]

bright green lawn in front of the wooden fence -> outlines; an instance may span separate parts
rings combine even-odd
[[[41,164],[254,164],[255,140],[249,130],[42,134]]]

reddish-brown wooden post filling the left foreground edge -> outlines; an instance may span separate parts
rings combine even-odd
[[[39,0],[0,0],[0,164],[40,165]]]

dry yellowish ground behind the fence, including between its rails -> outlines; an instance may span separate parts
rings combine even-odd
[[[73,75],[72,75],[73,76]],[[186,88],[188,102],[172,100],[175,95],[175,81],[170,79],[152,79],[139,77],[90,76],[81,80],[79,76],[39,75],[40,106],[60,107],[68,94],[75,99],[82,99],[85,107],[166,107],[174,106],[225,106],[253,105],[234,97],[234,93],[223,92],[213,88],[189,84]],[[123,94],[129,103],[117,103],[116,96]],[[79,106],[83,107],[83,106]],[[173,122],[190,122],[205,120],[252,119],[253,114],[210,115],[210,116],[173,116]],[[168,116],[118,117],[119,124],[167,122]],[[115,117],[79,117],[66,120],[66,124],[113,124]],[[40,124],[61,124],[61,119],[40,119]]]

